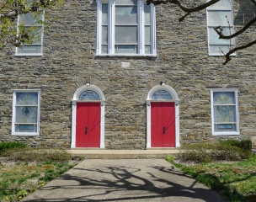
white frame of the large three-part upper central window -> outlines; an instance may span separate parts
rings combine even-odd
[[[108,53],[103,54],[102,45],[102,3],[109,3],[108,13]],[[145,24],[144,24],[144,1],[137,0],[137,20],[138,20],[138,52],[115,53],[115,0],[97,0],[97,48],[96,56],[157,56],[156,47],[156,14],[155,7],[151,3],[151,53],[145,54]]]

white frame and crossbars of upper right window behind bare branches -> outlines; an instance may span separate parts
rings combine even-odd
[[[207,0],[207,2],[209,2],[210,0]],[[223,1],[223,0],[222,0]],[[210,39],[211,39],[211,29],[213,28],[213,27],[215,27],[215,26],[211,26],[211,25],[209,25],[209,18],[210,18],[210,16],[209,16],[209,12],[211,12],[211,11],[219,11],[219,12],[225,12],[225,13],[227,13],[227,12],[230,12],[231,13],[231,17],[232,17],[232,20],[231,20],[231,22],[229,22],[230,23],[230,29],[231,29],[231,32],[232,32],[232,34],[234,33],[234,19],[233,19],[233,11],[232,11],[232,2],[230,1],[230,0],[224,0],[224,1],[227,1],[228,3],[230,3],[230,8],[223,8],[223,9],[220,9],[220,8],[214,8],[214,6],[215,6],[215,4],[213,4],[212,6],[210,6],[210,7],[208,7],[208,8],[206,8],[206,19],[207,19],[207,34],[208,34],[208,55],[209,56],[223,56],[223,53],[221,52],[221,49],[220,49],[220,51],[219,52],[211,52],[211,45],[215,45],[215,46],[217,46],[217,45],[226,45],[226,44],[211,44],[210,43]],[[218,26],[218,25],[216,25],[216,26]],[[223,27],[223,26],[221,26],[221,27]],[[228,27],[228,24],[227,24],[227,26],[225,26],[225,27]],[[211,28],[211,29],[210,29]],[[228,46],[228,49],[230,50],[230,48],[232,48],[232,46],[234,46],[235,45],[235,39],[233,38],[233,39],[231,39],[231,40],[233,40],[233,44],[232,45],[230,45],[230,44],[228,44],[227,46]],[[229,40],[230,41],[230,40]],[[226,52],[224,52],[224,53],[226,53]],[[236,56],[236,53],[232,53],[232,55],[231,56]]]

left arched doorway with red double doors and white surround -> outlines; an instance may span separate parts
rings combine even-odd
[[[71,148],[104,148],[104,94],[96,86],[74,93]]]

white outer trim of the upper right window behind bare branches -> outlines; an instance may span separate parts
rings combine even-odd
[[[209,2],[210,0],[207,0],[207,2]],[[234,17],[233,17],[233,10],[232,10],[232,2],[230,1],[230,0],[227,0],[229,3],[230,3],[230,5],[231,5],[231,9],[216,9],[216,11],[227,11],[227,12],[231,12],[232,13],[232,25],[231,25],[231,27],[232,27],[232,29],[233,29],[233,31],[235,32],[235,25],[234,25]],[[208,19],[209,19],[209,16],[208,16],[208,11],[209,10],[214,10],[214,9],[209,9],[209,7],[208,8],[206,8],[206,20],[207,20],[207,39],[208,39],[208,55],[209,56],[223,56],[223,54],[220,52],[220,53],[211,53],[211,45],[210,45],[210,29],[209,29],[209,22],[208,22]],[[236,41],[235,41],[235,39],[233,38],[233,40],[234,40],[234,45],[236,45]],[[221,45],[221,44],[220,44]],[[232,53],[230,56],[237,56],[237,53],[235,52],[235,53]]]

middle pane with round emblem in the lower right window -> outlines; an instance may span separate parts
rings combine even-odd
[[[236,122],[236,106],[220,105],[214,106],[215,123]]]

